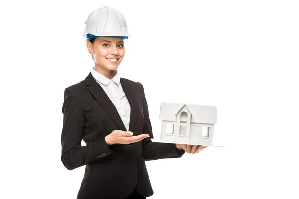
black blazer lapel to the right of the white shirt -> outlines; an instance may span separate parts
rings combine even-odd
[[[130,104],[130,123],[129,123],[129,131],[133,132],[135,123],[136,123],[136,119],[138,116],[138,106],[137,106],[137,100],[136,98],[138,98],[139,96],[137,96],[134,93],[134,88],[132,88],[132,85],[130,85],[130,83],[127,80],[124,80],[123,78],[121,78],[120,83],[122,85],[122,88],[124,90],[124,93],[126,94],[126,97],[129,101]]]

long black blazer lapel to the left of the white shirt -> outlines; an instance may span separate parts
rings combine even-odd
[[[117,112],[116,107],[109,99],[103,88],[96,82],[94,77],[92,76],[91,72],[89,72],[88,76],[85,78],[85,83],[87,89],[90,93],[95,97],[95,99],[102,105],[102,107],[106,110],[106,112],[110,115],[113,119],[115,124],[122,130],[127,131],[119,113]],[[130,103],[130,102],[129,102]],[[130,103],[131,105],[131,103]],[[131,120],[130,120],[131,124]]]

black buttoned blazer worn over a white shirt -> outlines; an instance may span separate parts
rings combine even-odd
[[[153,138],[142,84],[121,78],[131,106],[129,131]],[[175,144],[145,138],[132,145],[108,146],[105,136],[113,130],[127,131],[115,106],[91,73],[65,89],[61,161],[68,170],[86,165],[77,199],[123,199],[136,189],[151,196],[146,160],[178,158],[184,150]],[[86,146],[81,145],[82,139]]]

